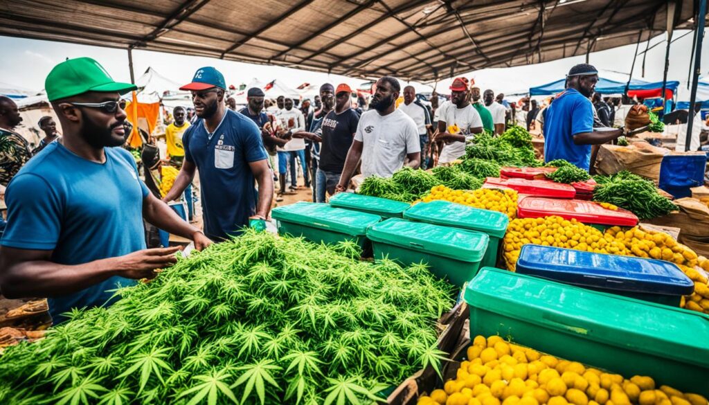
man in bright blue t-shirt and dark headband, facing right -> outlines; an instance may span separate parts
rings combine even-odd
[[[601,145],[623,135],[623,130],[593,129],[593,104],[589,97],[596,89],[598,70],[585,63],[576,65],[566,76],[567,88],[545,113],[544,158],[564,159],[588,172],[591,145]]]

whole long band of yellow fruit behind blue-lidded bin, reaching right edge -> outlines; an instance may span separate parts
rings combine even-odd
[[[515,271],[520,249],[527,243],[673,262],[694,282],[693,294],[683,297],[681,307],[709,314],[709,260],[677,243],[666,233],[638,226],[627,231],[613,226],[603,233],[575,219],[566,220],[560,216],[517,218],[510,222],[503,239],[503,256],[508,270]]]

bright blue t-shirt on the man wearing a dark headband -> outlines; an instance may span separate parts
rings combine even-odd
[[[547,109],[544,159],[565,159],[588,172],[591,145],[576,145],[574,135],[593,131],[593,104],[576,89],[566,89]]]

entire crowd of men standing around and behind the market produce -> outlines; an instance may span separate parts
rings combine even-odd
[[[405,166],[450,165],[476,134],[500,135],[508,123],[540,123],[545,160],[589,170],[591,145],[624,133],[598,129],[598,121],[613,123],[614,109],[594,95],[596,82],[593,66],[574,66],[551,104],[527,100],[516,109],[465,77],[454,79],[450,98],[440,102],[433,94],[430,104],[413,87],[381,77],[368,105],[362,97],[353,102],[347,84],[325,83],[312,104],[247,89],[247,105],[237,110],[223,74],[203,67],[180,88],[191,92],[194,109],[175,108],[165,128],[164,161],[179,174],[161,199],[153,181],[161,158],[151,134],[138,131],[144,179],[121,148],[133,131],[122,96],[135,86],[113,81],[90,58],[66,60],[45,80],[61,137],[57,123],[42,118],[45,138],[30,150],[13,131],[21,122],[16,104],[0,97],[0,184],[8,209],[0,289],[9,298],[49,297],[58,323],[66,311],[105,304],[116,286],[155,277],[175,262],[178,248],[147,248],[146,223],[201,250],[244,228],[264,229],[273,200],[286,194],[310,188],[313,201],[325,202],[350,189],[357,174],[391,177]],[[203,230],[166,204],[191,196],[198,173]]]

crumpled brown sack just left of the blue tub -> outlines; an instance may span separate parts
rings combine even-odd
[[[608,176],[628,170],[657,184],[662,157],[667,153],[669,150],[646,142],[635,142],[630,146],[601,145],[596,157],[596,173]]]

